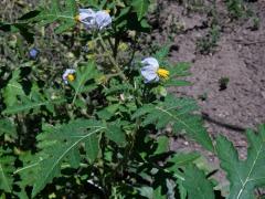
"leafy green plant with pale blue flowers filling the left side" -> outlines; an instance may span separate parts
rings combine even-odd
[[[136,48],[151,31],[149,4],[54,0],[1,23],[17,53],[0,67],[1,197],[214,198],[202,156],[169,150],[179,134],[212,153],[215,146],[194,100],[167,91],[190,85],[182,78],[190,64],[169,63],[169,46],[148,55]],[[218,139],[221,161],[230,145]],[[230,198],[244,198],[261,184],[237,184],[229,167],[236,158],[221,166],[235,180]]]

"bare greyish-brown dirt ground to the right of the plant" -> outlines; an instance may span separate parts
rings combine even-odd
[[[192,63],[192,75],[188,80],[193,85],[172,88],[171,92],[194,97],[213,139],[219,134],[225,135],[242,159],[246,158],[245,129],[265,123],[265,1],[247,6],[261,20],[258,30],[251,29],[250,19],[231,21],[223,1],[216,3],[221,38],[214,52],[208,55],[198,53],[197,41],[208,32],[211,18],[203,11],[189,14],[176,1],[160,1],[159,29],[152,36],[162,44],[172,36],[172,30],[169,30],[172,23],[182,27],[173,34],[170,60]],[[222,77],[227,77],[229,84],[221,91]],[[193,142],[178,137],[170,147],[172,150],[200,150],[213,167],[219,167],[216,157]],[[222,184],[227,184],[223,172],[216,177]]]

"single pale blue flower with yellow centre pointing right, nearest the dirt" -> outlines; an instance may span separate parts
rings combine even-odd
[[[163,80],[169,77],[169,71],[159,69],[159,63],[155,57],[146,57],[141,61],[141,75],[145,83],[158,82],[160,77]]]

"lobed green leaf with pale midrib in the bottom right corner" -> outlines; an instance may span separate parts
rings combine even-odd
[[[229,199],[254,199],[254,189],[265,184],[265,125],[259,126],[257,135],[253,130],[246,135],[250,144],[246,160],[239,159],[236,149],[225,137],[218,138],[218,156],[231,184]]]

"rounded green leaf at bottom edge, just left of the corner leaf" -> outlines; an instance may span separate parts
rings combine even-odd
[[[214,199],[213,185],[195,166],[190,165],[186,168],[182,185],[189,199]]]

